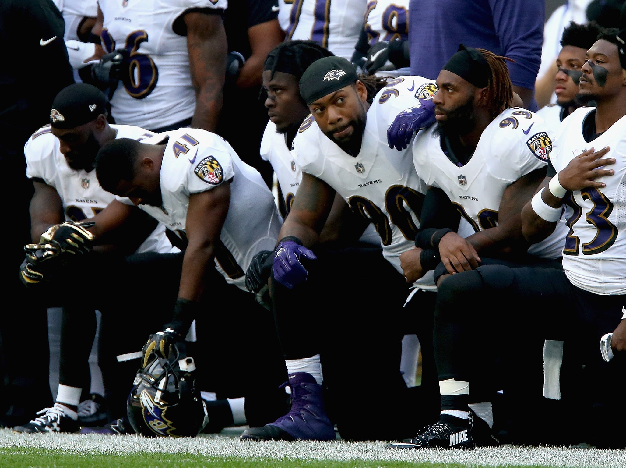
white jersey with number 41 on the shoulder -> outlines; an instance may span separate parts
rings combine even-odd
[[[245,164],[222,137],[200,128],[179,128],[159,133],[142,143],[158,144],[169,138],[161,166],[161,207],[139,207],[186,239],[187,209],[192,194],[230,182],[230,205],[215,246],[215,266],[226,281],[245,288],[245,271],[252,257],[274,250],[280,214],[274,195],[259,172]],[[132,204],[129,199],[118,200]]]

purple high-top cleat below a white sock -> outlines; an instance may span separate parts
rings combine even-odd
[[[335,430],[324,410],[322,386],[306,372],[289,375],[291,410],[264,427],[250,427],[241,435],[249,440],[335,440]]]

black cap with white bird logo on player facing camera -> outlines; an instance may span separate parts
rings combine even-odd
[[[319,98],[352,85],[356,68],[345,58],[331,56],[314,61],[300,78],[300,96],[307,105]]]

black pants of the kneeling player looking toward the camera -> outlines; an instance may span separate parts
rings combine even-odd
[[[403,308],[409,285],[379,248],[315,253],[303,261],[305,283],[272,280],[285,359],[320,354],[327,411],[344,439],[413,435],[423,423],[421,388],[407,389],[399,371],[402,337],[419,329]]]

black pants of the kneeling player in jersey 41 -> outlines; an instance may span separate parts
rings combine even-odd
[[[98,362],[111,419],[126,414],[126,399],[140,367],[138,359],[118,362],[116,356],[141,351],[148,336],[171,320],[182,259],[183,252],[150,252],[91,260],[91,271],[100,277],[95,301],[102,313]],[[272,422],[284,413],[285,393],[279,386],[287,376],[272,315],[214,268],[207,270],[206,281],[200,299],[203,313],[196,317],[198,341],[190,345],[197,368],[203,370],[198,372],[200,388],[218,398],[246,397],[250,425]],[[80,320],[73,323],[80,326]],[[90,349],[83,346],[81,361]]]

